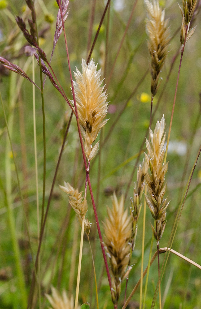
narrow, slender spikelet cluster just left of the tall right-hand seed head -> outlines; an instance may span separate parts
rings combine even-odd
[[[131,235],[131,248],[132,251],[135,248],[135,239],[137,235],[138,230],[138,219],[140,210],[142,208],[142,197],[143,197],[143,191],[145,186],[145,175],[148,170],[148,164],[143,159],[142,166],[139,165],[138,171],[137,171],[137,185],[135,183],[135,188],[133,189],[133,198],[130,197],[131,201],[131,207],[130,207],[130,214],[132,218],[132,235]]]

